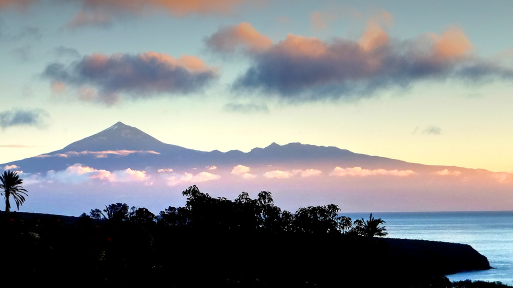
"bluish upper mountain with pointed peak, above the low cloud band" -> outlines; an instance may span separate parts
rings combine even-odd
[[[191,150],[166,144],[143,131],[117,122],[113,126],[71,143],[61,150],[35,157],[1,164],[22,167],[26,173],[46,173],[64,170],[74,163],[95,169],[122,170],[126,168],[144,170],[147,167],[191,169],[194,167],[229,167],[264,164],[281,167],[288,164],[335,167],[365,167],[367,169],[413,169],[421,164],[396,159],[353,153],[337,147],[323,147],[289,143],[271,143],[265,148],[254,148],[244,153],[239,150],[211,152]],[[440,169],[440,167],[433,167]]]

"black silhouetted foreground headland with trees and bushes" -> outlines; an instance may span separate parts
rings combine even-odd
[[[488,269],[468,245],[376,238],[382,219],[353,221],[337,205],[294,214],[242,193],[195,186],[159,215],[115,203],[81,217],[6,213],[4,277],[23,286],[501,287],[444,274]]]

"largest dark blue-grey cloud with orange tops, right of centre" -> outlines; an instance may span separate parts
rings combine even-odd
[[[226,55],[242,50],[252,60],[233,83],[235,91],[262,92],[289,102],[354,100],[429,79],[513,79],[513,69],[472,55],[472,44],[461,28],[403,40],[386,32],[391,22],[392,15],[382,11],[368,20],[358,40],[288,34],[278,43],[260,46],[254,39],[268,38],[258,31],[250,40],[236,33],[243,24],[249,27],[243,23],[218,30],[206,43]]]

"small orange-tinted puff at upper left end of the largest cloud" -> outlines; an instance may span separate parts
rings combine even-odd
[[[205,39],[206,45],[216,52],[234,52],[242,48],[247,52],[258,52],[269,48],[272,43],[251,24],[244,22],[237,26],[221,28]]]

